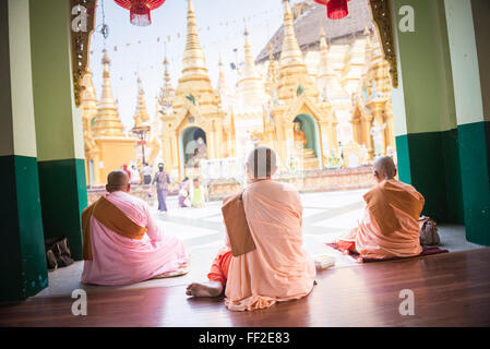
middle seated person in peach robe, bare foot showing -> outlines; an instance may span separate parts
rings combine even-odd
[[[210,282],[189,285],[188,296],[218,297],[225,291],[229,310],[251,311],[310,293],[315,267],[302,246],[301,201],[294,186],[271,179],[276,170],[273,149],[260,146],[251,152],[247,173],[252,183],[241,195],[241,207],[252,248],[240,245],[250,243],[230,231],[230,220],[240,220],[237,213],[227,217],[224,209],[227,248],[213,262]],[[224,207],[229,202],[225,200]]]

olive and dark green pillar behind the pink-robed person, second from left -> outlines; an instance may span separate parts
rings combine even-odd
[[[82,118],[71,68],[70,1],[31,0],[31,48],[40,202],[45,236],[67,236],[82,258],[86,207]]]

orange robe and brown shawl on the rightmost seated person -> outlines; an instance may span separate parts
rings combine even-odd
[[[367,207],[359,226],[343,236],[340,250],[362,257],[408,257],[422,252],[418,218],[425,198],[414,186],[391,179],[364,195]]]

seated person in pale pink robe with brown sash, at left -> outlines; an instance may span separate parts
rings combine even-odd
[[[177,272],[188,263],[182,242],[165,236],[148,205],[129,194],[129,177],[108,176],[108,193],[82,213],[82,281],[129,285]]]

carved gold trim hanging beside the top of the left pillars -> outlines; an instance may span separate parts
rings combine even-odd
[[[81,104],[82,80],[88,65],[88,48],[91,45],[91,35],[95,27],[95,9],[97,0],[70,0],[70,31],[71,31],[71,60],[73,71],[73,93],[76,107]],[[85,11],[77,11],[75,14],[72,10],[76,7],[86,9],[86,29],[81,28],[79,32],[73,31],[72,21],[77,15],[84,15]]]

